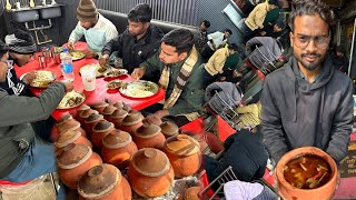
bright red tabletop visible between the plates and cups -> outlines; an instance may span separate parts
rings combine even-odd
[[[79,44],[82,46],[82,43],[83,42],[81,42]],[[82,47],[80,47],[80,48],[76,47],[76,49],[85,50]],[[96,83],[97,87],[96,87],[95,91],[92,91],[92,92],[83,91],[83,86],[82,86],[81,77],[79,76],[79,70],[81,67],[83,67],[86,64],[96,63],[96,62],[98,62],[98,60],[96,60],[96,59],[81,59],[78,61],[73,61],[75,90],[80,91],[86,94],[87,99],[86,99],[85,103],[92,104],[92,103],[96,103],[96,102],[99,102],[102,100],[109,100],[110,102],[116,102],[118,100],[122,100],[125,103],[129,104],[132,109],[141,110],[144,108],[152,106],[152,104],[157,103],[158,101],[161,101],[165,99],[165,91],[162,89],[160,89],[155,96],[149,97],[149,98],[144,98],[144,99],[134,99],[134,98],[122,97],[121,93],[118,92],[118,90],[108,90],[107,89],[106,84],[107,84],[107,81],[109,81],[107,78],[106,79],[105,78],[97,79],[97,83]],[[21,68],[14,66],[14,70],[17,72],[18,77],[21,77],[21,74],[23,74],[28,71],[32,71],[32,70],[48,70],[48,71],[52,71],[56,74],[57,80],[62,79],[60,66],[56,64],[53,61],[48,63],[47,68],[44,68],[44,69],[39,69],[39,61],[33,60]],[[123,80],[123,81],[131,81],[132,80],[130,76],[121,76],[118,79]],[[31,91],[36,96],[39,96],[39,93],[42,90],[31,88]],[[59,120],[66,113],[68,113],[68,112],[73,113],[77,109],[78,109],[78,107],[73,108],[73,109],[67,109],[67,110],[55,110],[52,112],[52,117],[56,120]]]

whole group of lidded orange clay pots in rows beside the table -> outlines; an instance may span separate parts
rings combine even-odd
[[[75,116],[78,121],[68,116],[58,122],[56,148],[59,177],[80,199],[130,200],[131,188],[144,198],[159,197],[175,177],[200,167],[198,142],[179,134],[174,122],[145,119],[121,101],[85,104]]]

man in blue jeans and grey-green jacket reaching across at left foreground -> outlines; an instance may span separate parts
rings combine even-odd
[[[0,82],[7,78],[8,50],[0,40]],[[53,146],[38,137],[30,122],[47,119],[72,88],[56,82],[39,97],[13,96],[0,88],[1,180],[23,182],[57,171]]]

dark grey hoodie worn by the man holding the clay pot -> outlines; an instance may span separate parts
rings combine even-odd
[[[287,151],[317,147],[337,162],[346,152],[353,124],[353,86],[327,56],[314,83],[301,78],[293,57],[268,74],[261,96],[266,147],[276,162]]]

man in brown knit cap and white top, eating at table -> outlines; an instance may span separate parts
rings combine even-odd
[[[115,24],[97,11],[92,0],[80,0],[77,19],[79,22],[69,37],[68,48],[73,50],[75,43],[85,36],[89,48],[88,58],[98,58],[102,47],[118,36]]]

